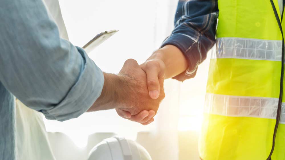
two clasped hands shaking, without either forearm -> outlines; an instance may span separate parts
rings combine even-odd
[[[165,65],[161,60],[152,59],[139,65],[134,59],[128,59],[118,74],[124,86],[115,107],[118,115],[143,125],[153,122],[165,97],[164,74]]]

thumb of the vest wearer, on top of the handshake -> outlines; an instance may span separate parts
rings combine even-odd
[[[160,64],[157,61],[148,61],[145,64],[147,87],[149,96],[152,99],[157,99],[160,93],[160,84],[158,81],[158,74],[160,72]]]

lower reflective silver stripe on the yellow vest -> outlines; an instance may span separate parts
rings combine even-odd
[[[206,93],[204,112],[231,117],[276,119],[277,106],[278,98]],[[285,124],[284,103],[282,103],[280,123]]]

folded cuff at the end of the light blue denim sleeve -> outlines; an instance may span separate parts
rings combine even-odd
[[[104,85],[103,72],[82,48],[77,47],[77,49],[85,61],[84,68],[66,97],[52,109],[42,110],[46,119],[64,121],[77,118],[85,113],[101,95]]]

